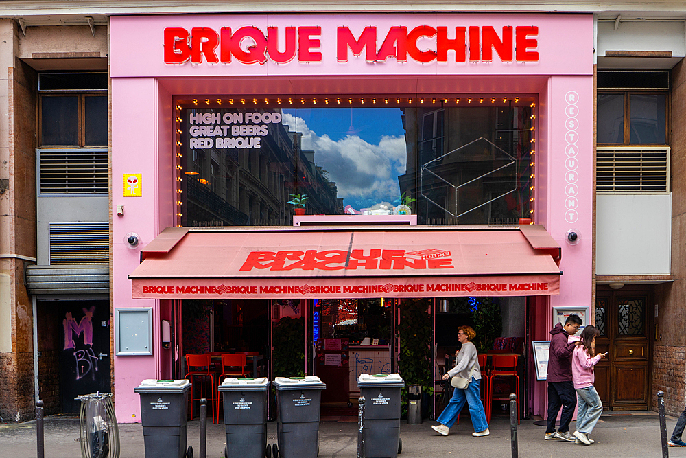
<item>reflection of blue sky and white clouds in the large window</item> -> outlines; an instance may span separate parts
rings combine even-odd
[[[359,210],[397,205],[407,161],[402,115],[399,108],[299,108],[283,110],[283,124],[303,134],[303,150],[315,152],[343,205]]]

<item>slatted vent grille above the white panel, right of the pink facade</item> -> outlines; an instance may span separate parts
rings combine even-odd
[[[598,192],[668,192],[670,147],[598,147],[595,189]]]

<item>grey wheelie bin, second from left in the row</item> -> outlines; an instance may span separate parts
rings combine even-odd
[[[224,379],[219,391],[224,402],[226,458],[272,458],[267,445],[267,389],[261,378]]]

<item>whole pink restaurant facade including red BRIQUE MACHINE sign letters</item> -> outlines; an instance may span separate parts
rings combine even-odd
[[[169,361],[180,358],[173,346],[161,345],[161,320],[172,301],[134,299],[129,278],[141,248],[180,225],[179,98],[249,103],[267,96],[285,103],[314,95],[333,102],[440,94],[488,104],[496,95],[530,97],[531,218],[561,247],[563,271],[559,295],[532,297],[532,340],[547,340],[558,310],[593,311],[591,14],[114,16],[110,76],[112,207],[124,206],[121,214],[113,211],[113,308],[152,310],[151,354],[113,358],[120,422],[139,422],[134,387],[167,378]],[[139,179],[133,193],[125,183],[131,175]],[[578,237],[570,241],[572,232]],[[137,247],[128,242],[132,234]],[[530,388],[532,413],[545,415],[545,382],[532,381]]]

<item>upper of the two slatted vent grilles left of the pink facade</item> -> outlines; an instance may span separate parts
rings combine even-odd
[[[108,150],[40,150],[40,194],[107,194]]]

